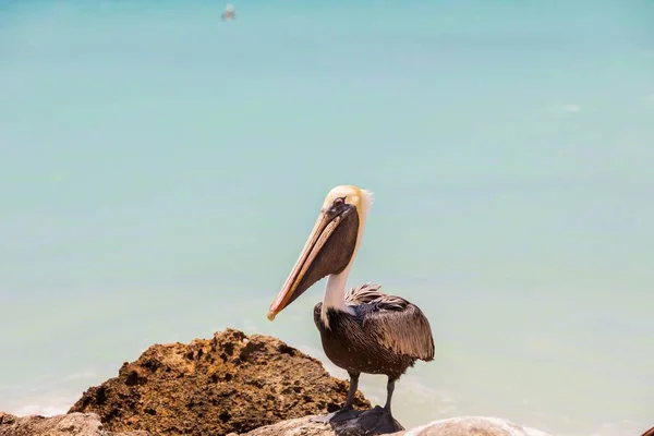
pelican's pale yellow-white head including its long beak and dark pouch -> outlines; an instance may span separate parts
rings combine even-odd
[[[373,194],[352,185],[336,186],[325,197],[318,220],[277,298],[268,319],[322,278],[340,274],[354,259]]]

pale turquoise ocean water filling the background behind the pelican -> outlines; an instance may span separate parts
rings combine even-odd
[[[0,1],[0,410],[53,414],[268,305],[324,196],[376,203],[352,286],[422,307],[410,427],[654,425],[653,1]],[[362,376],[385,399],[385,377]]]

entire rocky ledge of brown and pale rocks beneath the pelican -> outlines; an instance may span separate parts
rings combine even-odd
[[[117,377],[89,388],[68,414],[0,413],[0,436],[367,436],[371,413],[338,426],[312,415],[338,410],[348,383],[284,342],[227,329],[189,344],[156,344]],[[354,405],[371,403],[356,392]],[[367,417],[364,417],[367,416]],[[366,429],[364,429],[366,428]],[[548,436],[493,417],[455,417],[395,436]]]

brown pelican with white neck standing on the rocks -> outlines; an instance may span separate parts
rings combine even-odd
[[[356,186],[332,189],[295,266],[270,305],[268,319],[291,304],[316,281],[328,276],[314,322],[323,348],[335,365],[350,375],[343,408],[317,421],[339,422],[358,416],[352,402],[361,373],[388,376],[383,412],[390,414],[395,383],[416,360],[434,359],[429,322],[409,301],[363,284],[346,292],[346,281],[365,227],[373,194]]]

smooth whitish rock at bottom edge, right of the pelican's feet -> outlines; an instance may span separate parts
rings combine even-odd
[[[552,436],[499,417],[461,416],[433,421],[397,436]]]

